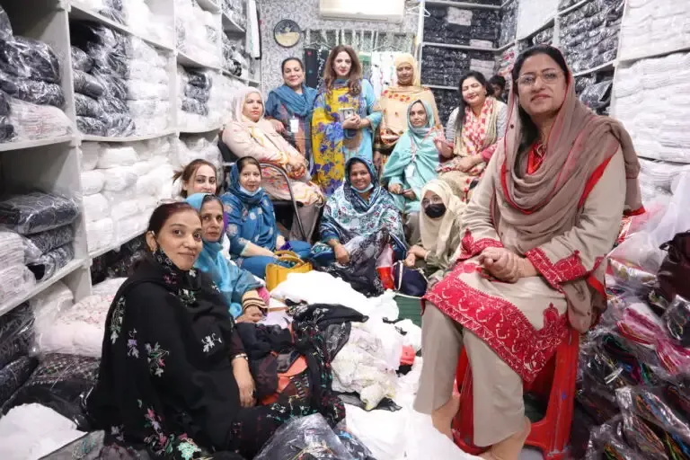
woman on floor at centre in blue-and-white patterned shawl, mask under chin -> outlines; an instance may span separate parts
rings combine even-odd
[[[323,243],[314,244],[314,261],[333,264],[343,279],[376,283],[376,260],[390,245],[397,259],[406,252],[403,220],[393,197],[378,185],[374,164],[350,158],[345,182],[326,202],[321,221]],[[337,262],[337,263],[334,263]],[[328,271],[328,270],[327,270]],[[365,281],[365,279],[368,279]]]

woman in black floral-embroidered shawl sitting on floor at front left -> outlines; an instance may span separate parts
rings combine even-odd
[[[201,234],[188,203],[161,205],[151,216],[149,254],[108,312],[87,401],[95,428],[106,430],[107,444],[152,458],[241,460],[293,417],[323,411],[337,423],[341,411],[330,409],[337,402],[296,397],[296,388],[253,407],[255,385],[226,300],[193,268]]]

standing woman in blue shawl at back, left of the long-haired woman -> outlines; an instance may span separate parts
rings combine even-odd
[[[297,57],[288,57],[281,66],[282,84],[269,93],[266,119],[308,161],[312,158],[312,111],[316,90],[305,84],[305,66]]]

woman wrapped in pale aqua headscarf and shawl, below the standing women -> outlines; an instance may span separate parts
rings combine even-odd
[[[407,111],[408,129],[395,144],[381,177],[405,217],[405,230],[410,242],[420,239],[421,188],[438,175],[435,123],[428,103],[413,102]]]

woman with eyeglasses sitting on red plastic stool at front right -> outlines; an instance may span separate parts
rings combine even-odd
[[[464,212],[458,262],[424,297],[415,402],[450,436],[464,346],[473,444],[505,460],[517,460],[530,433],[523,382],[571,327],[596,323],[623,212],[644,212],[630,136],[579,102],[560,51],[527,49],[512,80],[508,131]]]

